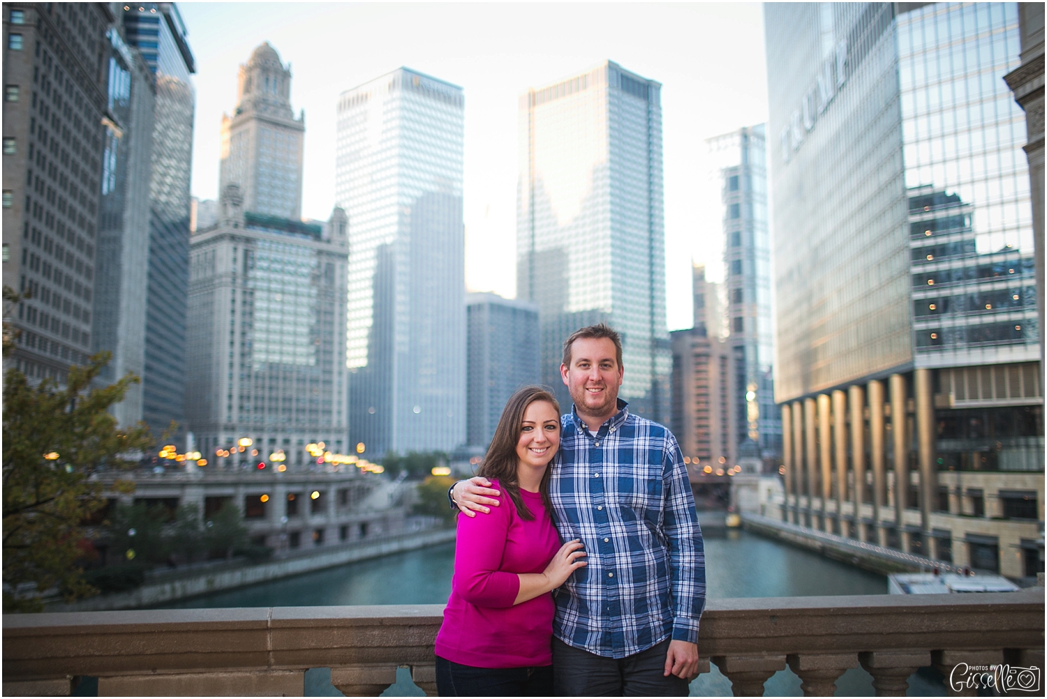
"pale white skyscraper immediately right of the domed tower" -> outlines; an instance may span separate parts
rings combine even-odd
[[[462,89],[400,68],[343,92],[337,119],[351,441],[450,451],[466,437]]]

